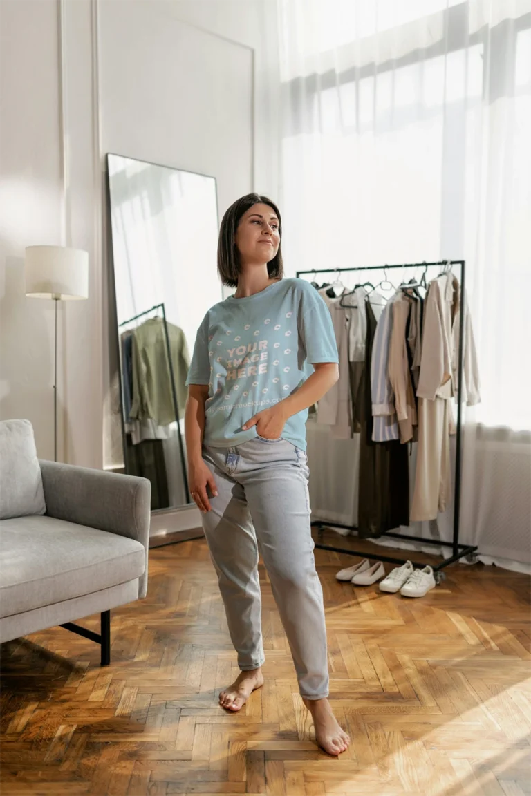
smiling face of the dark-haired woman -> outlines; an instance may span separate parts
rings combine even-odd
[[[240,218],[235,240],[242,265],[271,262],[280,245],[279,219],[272,207],[252,205]]]

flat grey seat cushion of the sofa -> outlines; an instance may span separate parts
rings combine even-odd
[[[53,517],[0,521],[0,618],[143,575],[135,539]]]

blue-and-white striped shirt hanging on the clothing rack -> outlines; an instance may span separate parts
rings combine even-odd
[[[389,299],[377,322],[376,334],[370,362],[370,385],[372,394],[373,442],[384,443],[400,439],[396,418],[394,395],[388,377],[389,342],[392,332],[392,302]]]

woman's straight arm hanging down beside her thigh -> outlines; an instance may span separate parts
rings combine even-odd
[[[203,435],[205,433],[205,403],[209,397],[209,387],[203,384],[190,384],[185,409],[186,455],[188,456],[188,480],[190,493],[203,513],[210,511],[210,487],[217,497],[216,481],[203,461]]]

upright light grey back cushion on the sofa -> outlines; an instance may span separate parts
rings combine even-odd
[[[0,422],[0,520],[46,512],[29,420]]]

